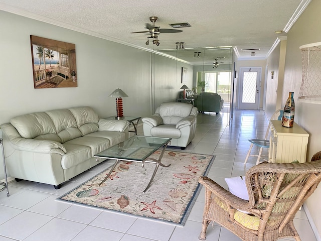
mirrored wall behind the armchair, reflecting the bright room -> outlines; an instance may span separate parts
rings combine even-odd
[[[224,99],[222,125],[228,125],[234,78],[232,56],[233,48],[230,46],[155,51],[152,57],[153,111],[163,102],[177,101],[185,84],[193,91],[195,98],[201,92],[221,95]],[[202,122],[207,115],[216,113],[199,114],[198,122]]]

